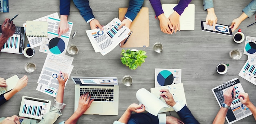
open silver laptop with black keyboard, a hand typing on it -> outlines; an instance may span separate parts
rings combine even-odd
[[[85,115],[118,115],[119,86],[115,77],[71,77],[75,85],[75,107],[81,95],[89,92],[94,99]]]

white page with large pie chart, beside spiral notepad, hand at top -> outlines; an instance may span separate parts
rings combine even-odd
[[[47,54],[52,54],[60,57],[64,57],[67,50],[67,44],[70,39],[70,33],[72,30],[73,23],[68,22],[69,30],[67,33],[62,34],[58,38],[58,24],[60,20],[48,17],[48,36],[43,39],[40,46],[40,52],[45,52]]]

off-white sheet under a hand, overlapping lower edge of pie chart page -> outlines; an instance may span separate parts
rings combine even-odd
[[[183,83],[166,85],[162,87],[155,87],[155,88],[151,88],[150,91],[152,94],[155,95],[156,98],[160,98],[160,94],[162,93],[160,92],[160,89],[168,89],[170,93],[173,95],[173,99],[175,100],[176,103],[179,102],[179,104],[181,105],[186,104],[186,97],[185,97]],[[160,100],[166,104],[164,98],[160,98]],[[166,107],[161,109],[159,113],[166,112],[166,111],[174,111],[174,109],[170,105],[168,105],[168,108]]]

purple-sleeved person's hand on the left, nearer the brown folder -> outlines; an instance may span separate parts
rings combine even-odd
[[[164,16],[164,13],[159,15],[158,19],[159,19],[159,26],[161,31],[166,34],[173,34],[173,32],[171,31],[173,30],[173,27],[171,26],[171,22]]]

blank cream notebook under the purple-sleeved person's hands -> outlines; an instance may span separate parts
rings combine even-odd
[[[168,18],[177,4],[162,4],[164,15]],[[195,4],[189,4],[180,15],[180,30],[195,30]]]

